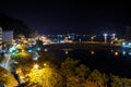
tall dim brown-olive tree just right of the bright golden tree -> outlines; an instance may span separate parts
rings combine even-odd
[[[61,63],[61,74],[66,79],[66,87],[82,87],[82,80],[76,75],[76,73],[81,75],[78,66],[79,60],[73,60],[70,58],[67,58],[67,60]]]

